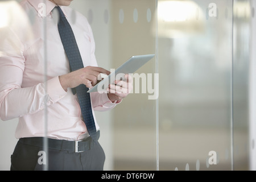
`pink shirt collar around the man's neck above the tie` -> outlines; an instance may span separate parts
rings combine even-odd
[[[51,13],[51,11],[57,6],[55,3],[49,0],[27,0],[30,4],[38,11],[39,16],[47,16]],[[45,15],[43,15],[44,5],[46,7]],[[60,6],[60,9],[63,11],[64,15],[67,17],[67,13],[65,12],[64,6]]]

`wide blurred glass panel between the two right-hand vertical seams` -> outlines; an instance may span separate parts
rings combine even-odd
[[[160,170],[232,169],[232,3],[158,1]]]

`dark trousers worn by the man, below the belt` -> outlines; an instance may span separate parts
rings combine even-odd
[[[18,141],[11,155],[11,171],[42,171],[43,147],[32,146]],[[42,155],[41,155],[42,154]],[[90,150],[71,152],[48,148],[49,171],[102,171],[105,154],[100,143],[96,142]]]

